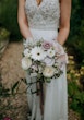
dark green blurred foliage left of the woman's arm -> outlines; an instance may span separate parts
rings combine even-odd
[[[17,24],[17,0],[0,0],[0,26],[11,32],[12,39],[21,38]]]

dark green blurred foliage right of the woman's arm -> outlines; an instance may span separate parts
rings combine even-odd
[[[72,0],[71,31],[67,44],[74,48],[72,53],[84,64],[84,0]],[[75,55],[76,52],[76,55]]]

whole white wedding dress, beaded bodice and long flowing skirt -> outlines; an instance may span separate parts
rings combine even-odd
[[[34,38],[52,40],[58,36],[60,2],[59,0],[43,0],[37,5],[36,0],[25,1],[25,13],[29,31]],[[25,43],[25,40],[23,40]],[[36,77],[29,77],[26,72],[27,83],[36,82]],[[63,74],[45,84],[44,115],[40,112],[39,96],[32,94],[36,91],[36,84],[27,88],[28,107],[32,116],[28,120],[68,120],[68,89],[67,68]]]

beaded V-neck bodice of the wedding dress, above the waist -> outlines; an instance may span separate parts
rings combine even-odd
[[[25,13],[29,27],[38,29],[59,28],[59,0],[43,0],[39,5],[37,5],[36,0],[26,0]]]

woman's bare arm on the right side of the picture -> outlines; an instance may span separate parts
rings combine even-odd
[[[57,40],[63,45],[70,32],[71,0],[60,0],[60,27]]]

